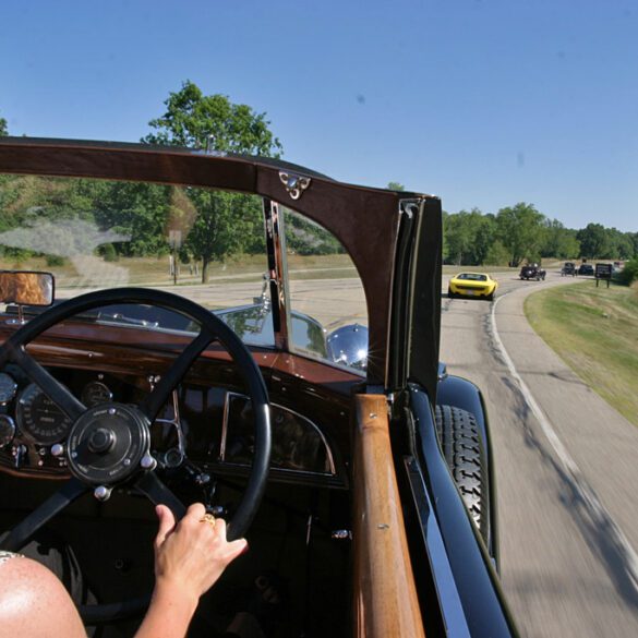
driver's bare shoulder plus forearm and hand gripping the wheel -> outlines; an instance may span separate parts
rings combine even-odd
[[[226,522],[205,517],[191,505],[176,525],[170,509],[158,505],[155,539],[155,589],[135,638],[186,635],[200,597],[227,565],[248,547],[244,539],[228,542]],[[23,556],[0,559],[0,627],[21,638],[86,638],[77,610],[57,576]]]

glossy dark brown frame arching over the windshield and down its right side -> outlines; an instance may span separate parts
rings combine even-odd
[[[205,186],[290,204],[332,232],[357,267],[370,327],[366,377],[374,385],[385,385],[388,374],[399,202],[413,196],[440,203],[431,195],[344,184],[272,158],[144,144],[2,137],[0,172]],[[300,178],[308,186],[301,192],[290,186]]]

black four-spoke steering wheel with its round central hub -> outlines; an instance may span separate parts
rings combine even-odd
[[[86,408],[26,352],[26,346],[73,315],[117,303],[144,303],[178,312],[195,322],[200,334],[139,405],[112,402]],[[220,342],[238,366],[253,406],[255,450],[252,469],[240,504],[228,523],[229,540],[242,537],[264,494],[270,458],[268,395],[257,365],[241,339],[201,305],[169,292],[117,288],[89,292],[50,308],[17,329],[0,348],[0,368],[8,362],[17,364],[73,422],[62,452],[72,478],[14,527],[0,543],[0,549],[20,550],[48,520],[87,491],[93,490],[98,498],[105,498],[113,487],[124,483],[134,485],[154,504],[169,506],[179,520],[185,506],[154,471],[157,464],[151,456],[149,428],[173,388],[213,341]],[[147,603],[148,598],[143,598],[88,605],[81,607],[80,612],[85,623],[98,624],[139,613]]]

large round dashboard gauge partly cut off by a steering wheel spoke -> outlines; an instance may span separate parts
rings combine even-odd
[[[73,424],[35,383],[24,388],[20,395],[15,417],[20,431],[40,445],[62,441]]]

